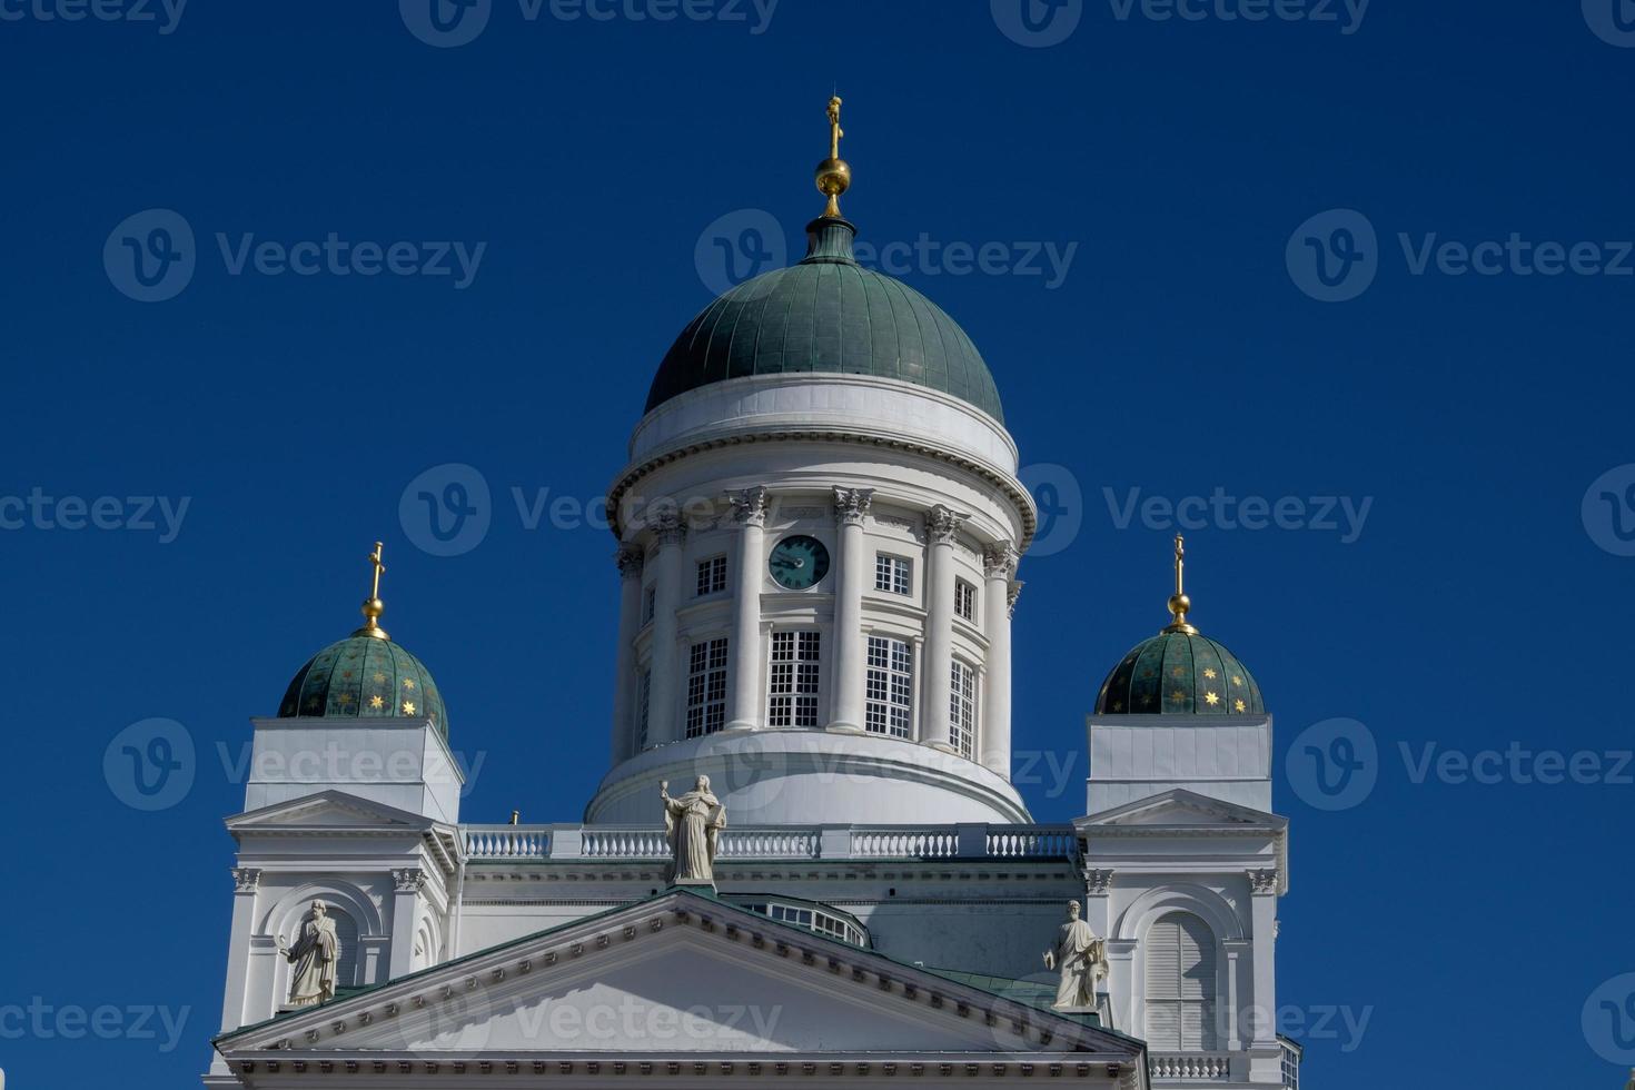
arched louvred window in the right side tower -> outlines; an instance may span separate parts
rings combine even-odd
[[[1154,1051],[1212,1052],[1215,935],[1198,917],[1171,912],[1146,933],[1146,1043]]]

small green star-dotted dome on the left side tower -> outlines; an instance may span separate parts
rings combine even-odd
[[[443,695],[430,670],[374,636],[348,636],[312,655],[284,690],[278,716],[430,716],[448,739]]]

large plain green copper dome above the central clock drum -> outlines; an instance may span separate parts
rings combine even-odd
[[[965,330],[930,299],[852,255],[844,219],[806,227],[800,265],[726,293],[670,345],[647,412],[687,391],[754,374],[871,374],[942,391],[1004,422],[994,376]]]

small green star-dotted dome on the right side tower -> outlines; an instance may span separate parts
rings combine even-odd
[[[1261,686],[1230,650],[1195,632],[1159,632],[1113,667],[1095,714],[1261,716]]]

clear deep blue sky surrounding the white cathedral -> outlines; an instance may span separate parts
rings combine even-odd
[[[607,487],[721,273],[706,227],[728,216],[718,234],[754,248],[742,209],[764,209],[795,248],[819,211],[835,87],[863,240],[997,243],[996,268],[1076,247],[1061,278],[955,275],[940,248],[904,273],[981,346],[1024,464],[1045,466],[1032,480],[1071,508],[1055,554],[1020,570],[1015,742],[1035,815],[1082,812],[1084,713],[1164,621],[1171,528],[1123,520],[1131,490],[1298,498],[1285,523],[1321,521],[1313,497],[1372,502],[1357,534],[1342,518],[1248,529],[1225,505],[1189,533],[1195,619],[1275,714],[1293,822],[1279,997],[1306,1023],[1288,1030],[1308,1083],[1622,1085],[1628,10],[1375,0],[1359,25],[1337,3],[1326,23],[1213,5],[1192,21],[1084,0],[1037,47],[986,2],[783,0],[752,33],[747,5],[747,21],[661,25],[530,21],[495,0],[474,41],[432,47],[381,0],[195,0],[172,33],[43,20],[41,3],[0,0],[20,15],[0,20],[0,497],[41,497],[0,507],[0,1005],[121,1013],[113,1039],[70,1039],[56,1013],[41,1031],[13,1008],[15,1085],[118,1072],[170,1088],[204,1069],[232,900],[221,819],[242,804],[221,752],[232,763],[249,717],[356,624],[376,538],[386,626],[437,673],[455,748],[482,760],[464,817],[579,819],[605,771],[613,543],[549,516],[526,529],[512,489]],[[116,227],[147,209],[196,242],[160,302],[124,294],[144,289],[123,239],[165,224]],[[1301,229],[1331,209],[1377,240],[1354,216]],[[330,232],[486,250],[456,288],[234,275],[216,240]],[[1457,255],[1413,271],[1432,235],[1512,232],[1596,243],[1579,268],[1625,275],[1529,276],[1524,257],[1454,275]],[[1336,291],[1360,294],[1313,297]],[[487,536],[453,557],[417,549],[399,516],[445,462],[492,490]],[[98,497],[119,498],[105,523],[139,515],[126,497],[188,508],[170,541],[59,525]],[[118,753],[116,775],[103,765],[147,717],[195,748],[191,788],[157,812],[123,801]],[[1336,717],[1362,726],[1297,744]],[[1485,765],[1496,783],[1418,775],[1427,745],[1481,765],[1512,744],[1532,757]],[[1596,783],[1537,783],[1539,750],[1597,755]],[[142,1036],[141,1007],[186,1010],[175,1048],[157,1016]]]

